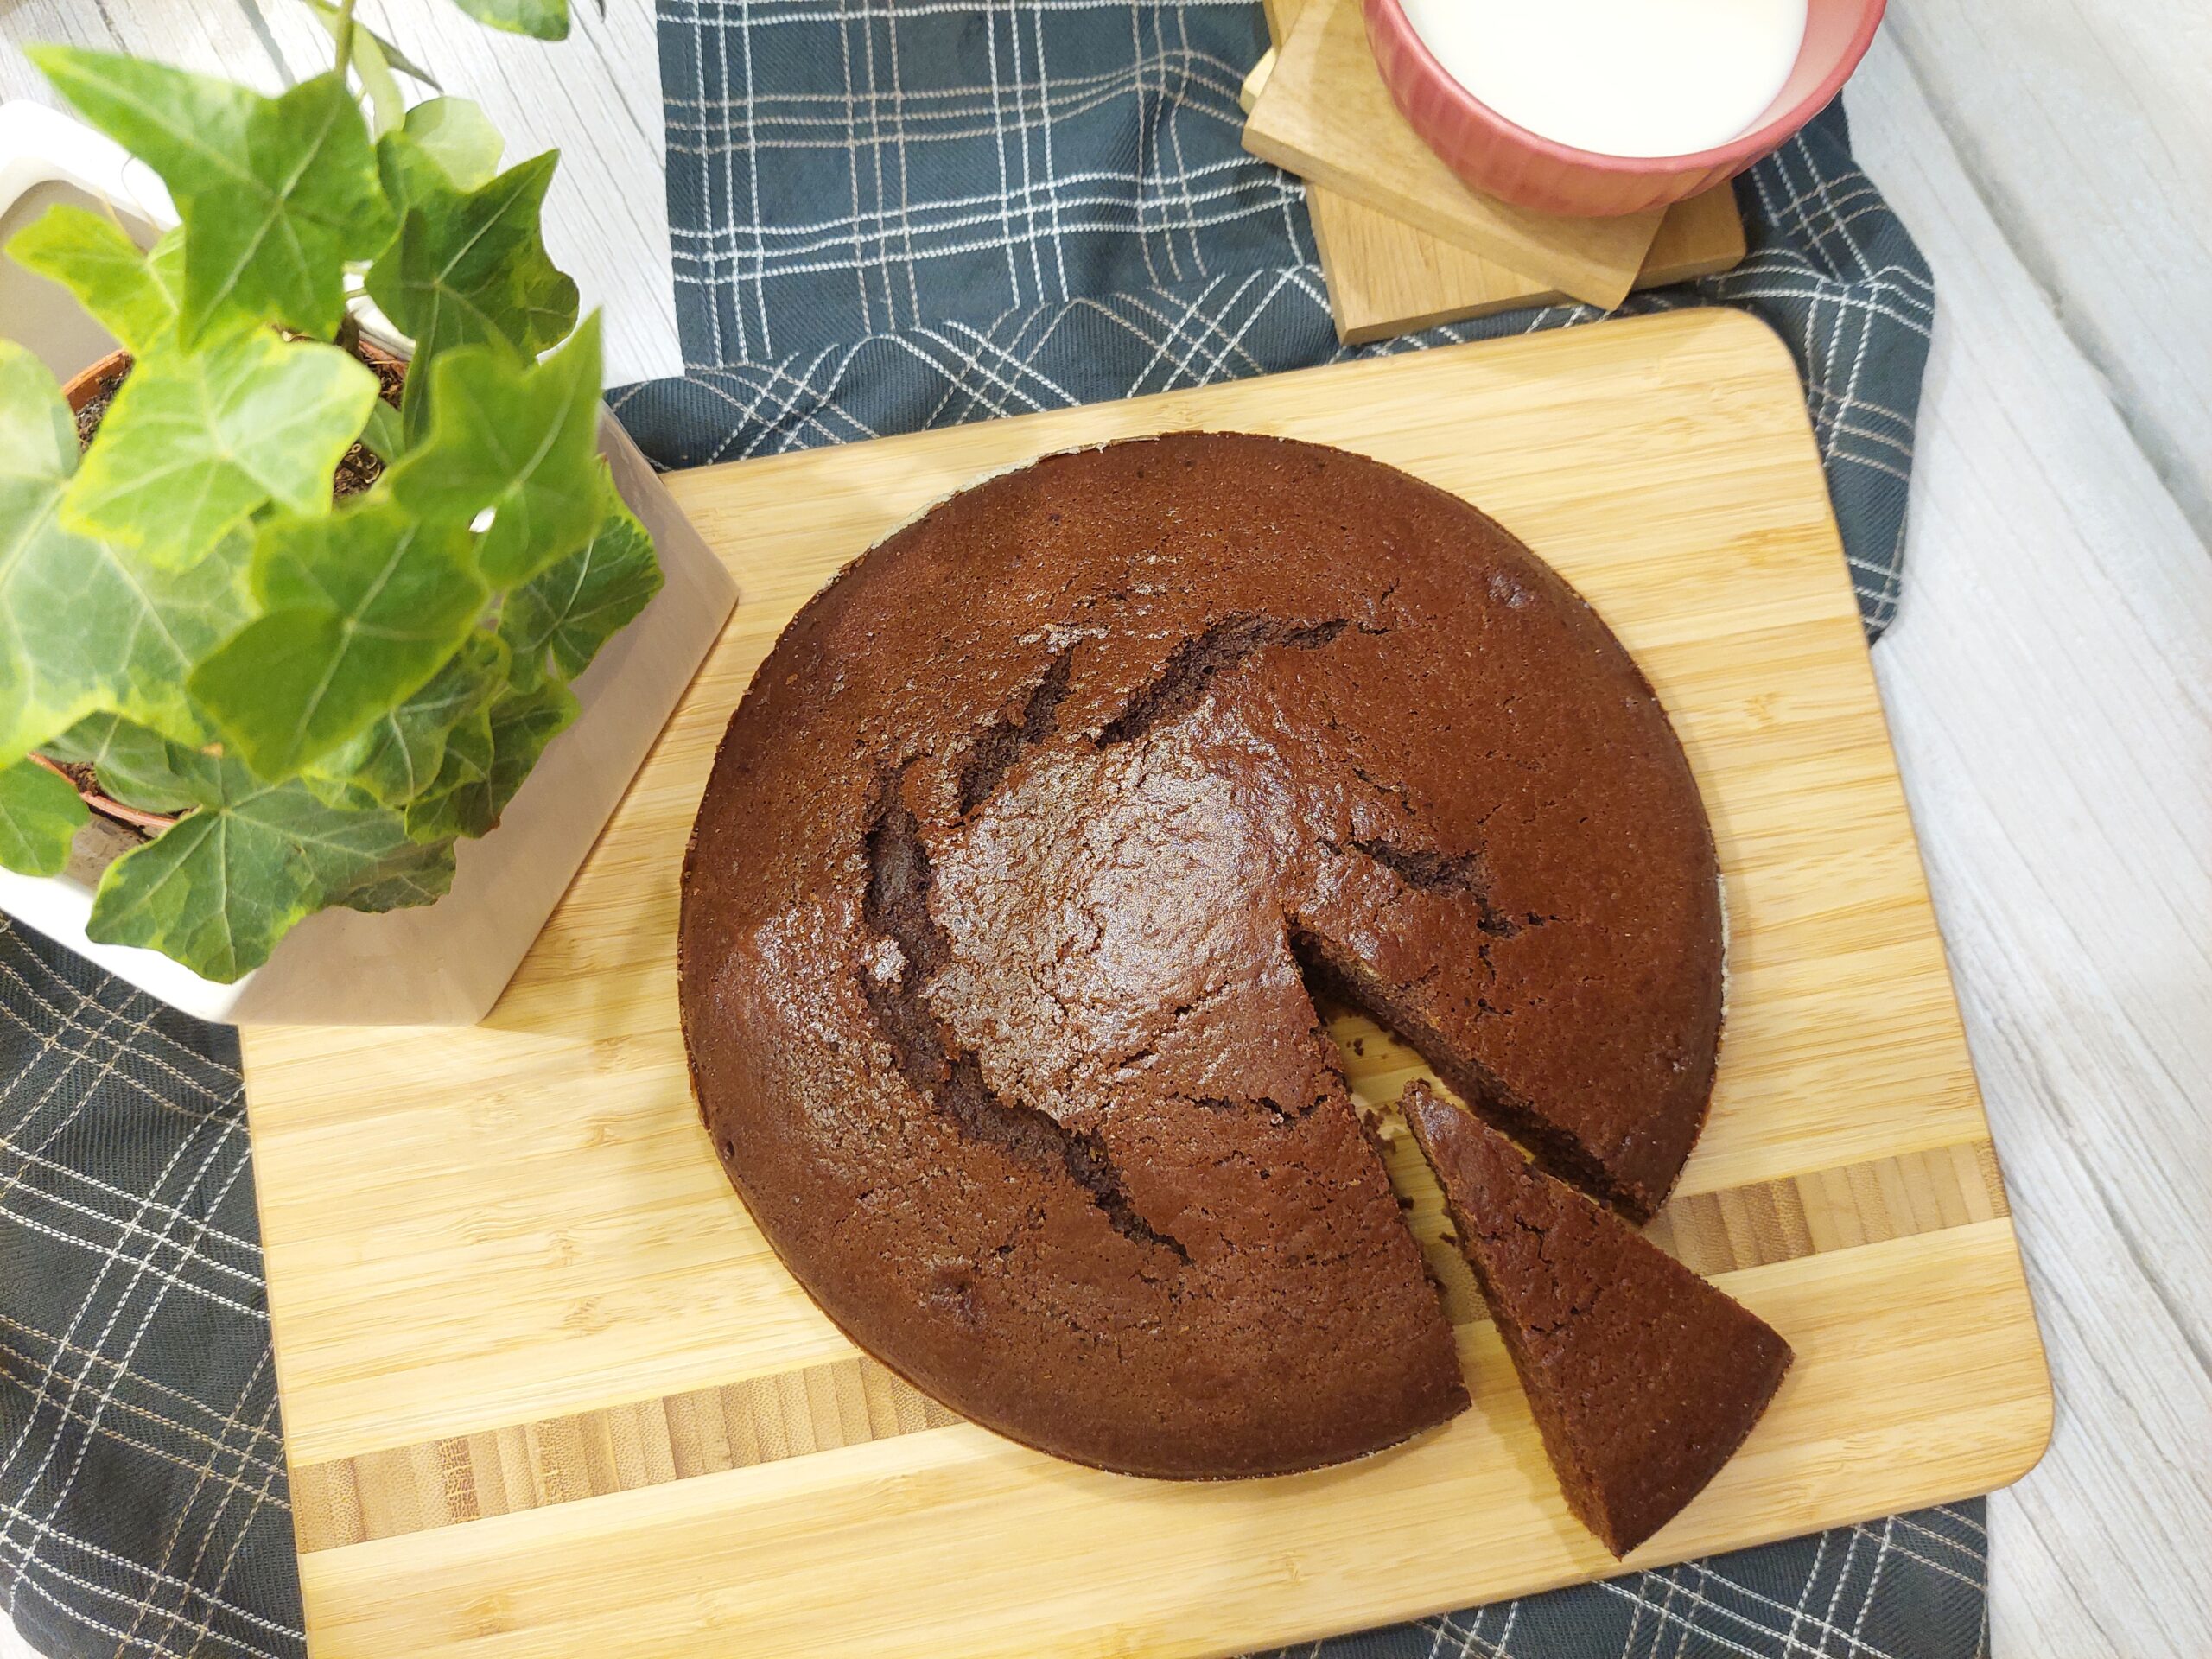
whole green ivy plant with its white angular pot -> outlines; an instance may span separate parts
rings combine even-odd
[[[64,387],[0,341],[0,867],[29,878],[0,900],[215,1018],[252,1018],[239,987],[341,911],[356,931],[288,951],[305,991],[265,1018],[478,1018],[734,593],[604,418],[597,316],[540,237],[557,155],[502,168],[473,104],[405,106],[352,0],[305,4],[336,62],[279,97],[31,51],[177,223],[144,246],[108,204],[53,206],[7,250],[122,349]],[[655,606],[670,553],[684,604]],[[648,608],[668,637],[599,695],[595,774],[440,905]],[[358,931],[414,907],[453,914]],[[133,973],[146,953],[168,962]]]

